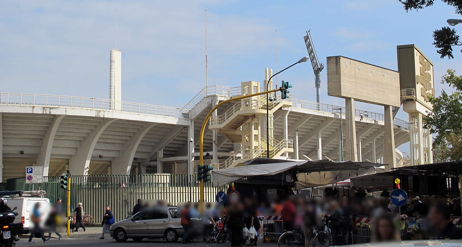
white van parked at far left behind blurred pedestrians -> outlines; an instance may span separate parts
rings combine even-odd
[[[18,216],[14,219],[14,223],[23,223],[24,224],[24,234],[29,233],[29,213],[32,212],[34,204],[37,202],[44,203],[47,205],[50,202],[48,198],[39,198],[39,197],[13,197],[6,198],[8,200],[8,206],[10,208],[18,207],[15,212],[18,213]],[[40,211],[45,211],[45,207],[41,207]]]

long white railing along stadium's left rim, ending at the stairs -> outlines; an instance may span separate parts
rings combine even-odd
[[[82,108],[116,112],[130,112],[134,114],[152,114],[186,119],[189,118],[189,109],[186,108],[174,108],[80,96],[0,93],[0,102],[1,104],[5,105]]]

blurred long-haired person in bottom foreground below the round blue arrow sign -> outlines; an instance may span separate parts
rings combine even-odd
[[[400,236],[391,215],[377,217],[374,221],[372,241],[399,241]]]

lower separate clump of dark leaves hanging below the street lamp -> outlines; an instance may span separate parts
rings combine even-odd
[[[452,54],[452,47],[455,45],[461,45],[459,42],[459,36],[456,35],[456,30],[450,29],[449,27],[442,27],[441,30],[433,31],[433,39],[435,41],[432,44],[436,48],[439,48],[436,52],[441,55],[441,58],[446,56],[448,59],[454,58],[454,55]]]

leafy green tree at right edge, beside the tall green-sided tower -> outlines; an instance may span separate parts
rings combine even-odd
[[[433,104],[433,112],[424,118],[426,128],[430,133],[436,133],[435,145],[444,143],[447,136],[446,129],[452,129],[454,134],[461,133],[462,129],[462,76],[457,76],[456,71],[447,70],[442,78],[442,84],[449,84],[455,91],[448,95],[444,90],[438,97],[430,97]]]

